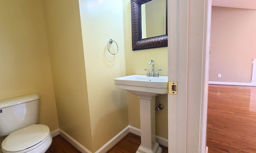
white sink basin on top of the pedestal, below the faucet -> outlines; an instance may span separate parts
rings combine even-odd
[[[129,75],[115,78],[116,88],[125,89],[137,96],[157,96],[167,94],[168,77],[146,77],[146,75]]]

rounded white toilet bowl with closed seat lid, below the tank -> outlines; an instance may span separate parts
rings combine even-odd
[[[14,131],[2,142],[3,153],[44,153],[51,145],[50,129],[43,124],[34,124]],[[41,151],[44,150],[44,151]]]

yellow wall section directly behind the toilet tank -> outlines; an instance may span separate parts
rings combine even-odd
[[[58,117],[41,0],[0,1],[0,99],[40,95],[40,124]]]

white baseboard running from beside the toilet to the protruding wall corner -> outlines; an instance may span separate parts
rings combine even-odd
[[[66,132],[62,131],[61,129],[60,129],[60,135],[64,137],[64,139],[66,139],[69,143],[71,143],[74,147],[76,147],[76,149],[78,149],[82,153],[92,153],[91,151],[86,149],[86,147],[81,145],[78,141],[73,139],[70,135],[68,135]]]

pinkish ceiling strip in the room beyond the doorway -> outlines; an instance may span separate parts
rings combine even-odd
[[[212,6],[256,10],[256,0],[212,0]]]

